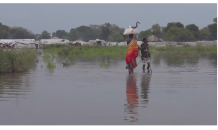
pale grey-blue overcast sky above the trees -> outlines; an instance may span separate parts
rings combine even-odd
[[[41,33],[67,32],[90,24],[116,24],[127,28],[139,21],[138,31],[153,24],[181,22],[199,29],[218,17],[218,3],[0,3],[0,22]]]

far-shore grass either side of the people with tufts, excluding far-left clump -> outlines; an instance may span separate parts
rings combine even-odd
[[[45,45],[43,52],[47,57],[47,66],[54,67],[54,58],[63,65],[71,65],[76,59],[86,61],[101,59],[100,66],[109,66],[109,59],[125,60],[126,46],[69,46],[69,45]],[[218,46],[182,46],[182,47],[154,47],[150,46],[151,55],[168,53],[170,57],[196,59],[207,52],[218,52]],[[139,51],[140,56],[140,51]],[[50,60],[49,58],[50,57]],[[49,65],[50,64],[50,65]]]

